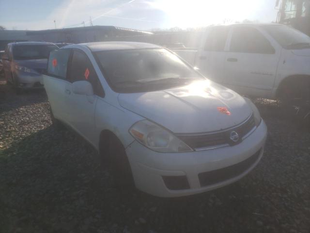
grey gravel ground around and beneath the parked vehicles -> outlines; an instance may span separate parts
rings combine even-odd
[[[3,83],[2,83],[3,84]],[[259,165],[232,185],[160,199],[120,192],[96,152],[50,121],[46,94],[0,83],[0,232],[310,232],[310,133],[270,100]]]

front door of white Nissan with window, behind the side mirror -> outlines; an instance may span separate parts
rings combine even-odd
[[[70,71],[70,83],[65,86],[65,103],[68,112],[69,124],[85,139],[90,142],[94,141],[94,112],[96,101],[99,97],[103,97],[103,88],[93,65],[82,50],[74,49],[72,53]],[[93,86],[93,96],[74,94],[72,83],[76,81],[88,81]]]

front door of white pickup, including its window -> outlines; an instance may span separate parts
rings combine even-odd
[[[280,56],[274,46],[257,28],[233,27],[223,84],[240,94],[269,96]]]

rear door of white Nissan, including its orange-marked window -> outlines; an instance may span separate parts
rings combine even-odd
[[[47,75],[43,75],[44,87],[55,118],[66,123],[65,86],[67,67],[72,50],[51,51],[47,64]]]

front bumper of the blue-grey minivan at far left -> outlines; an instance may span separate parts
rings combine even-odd
[[[15,77],[18,81],[18,87],[27,88],[44,88],[43,76],[41,74],[16,71]]]

